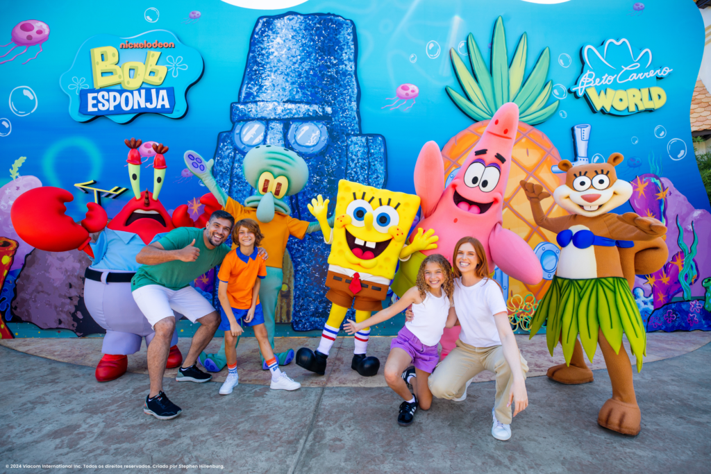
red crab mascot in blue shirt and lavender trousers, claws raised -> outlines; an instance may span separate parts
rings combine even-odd
[[[100,205],[88,203],[87,216],[77,224],[65,215],[64,203],[73,195],[60,188],[29,190],[15,201],[11,218],[18,235],[28,244],[48,252],[80,249],[92,260],[85,271],[84,302],[92,318],[106,330],[102,352],[104,357],[96,367],[96,379],[107,382],[124,375],[127,355],[138,352],[141,340],[151,343],[154,331],[131,295],[131,279],[139,268],[136,254],[148,244],[156,242],[176,227],[192,227],[187,205],[179,206],[171,217],[158,195],[166,175],[168,151],[163,144],[154,144],[154,192],[141,193],[141,140],[125,140],[131,149],[127,160],[135,199],[107,225],[108,217]],[[205,212],[211,212],[205,203]],[[219,205],[215,207],[218,209]],[[96,242],[90,233],[102,232]],[[171,352],[166,367],[178,367],[183,355],[178,350],[178,334],[173,334]]]

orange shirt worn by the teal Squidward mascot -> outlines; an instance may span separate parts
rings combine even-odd
[[[264,222],[260,222],[257,219],[257,208],[246,208],[232,198],[228,198],[225,210],[230,212],[232,217],[235,217],[235,222],[240,219],[252,219],[260,225],[260,231],[264,235],[260,246],[264,247],[267,254],[269,254],[267,266],[272,266],[273,268],[282,268],[284,249],[287,248],[289,235],[301,240],[306,235],[306,229],[309,227],[309,222],[295,219],[283,212],[274,212],[272,222],[264,224]],[[232,242],[232,249],[235,247],[237,245]]]

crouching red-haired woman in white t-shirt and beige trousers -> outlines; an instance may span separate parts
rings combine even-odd
[[[474,237],[459,239],[453,259],[454,308],[461,334],[456,348],[429,377],[429,389],[437,398],[463,400],[472,377],[482,370],[495,372],[491,434],[505,441],[511,437],[512,402],[513,416],[528,406],[528,365],[518,352],[501,287],[488,277],[481,242]]]

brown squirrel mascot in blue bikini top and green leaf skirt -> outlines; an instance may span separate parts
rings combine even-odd
[[[615,173],[615,166],[623,159],[620,153],[612,153],[606,163],[573,166],[563,160],[558,164],[566,181],[556,188],[553,200],[572,215],[545,217],[540,201],[550,195],[540,185],[525,181],[520,185],[535,223],[556,232],[561,248],[556,274],[530,329],[533,337],[547,323],[551,355],[558,340],[562,345],[565,364],[550,367],[548,377],[564,384],[592,382],[583,348],[592,360],[599,344],[612,382],[612,398],[600,409],[597,422],[619,433],[636,435],[641,414],[622,333],[637,357],[639,371],[646,332],[631,287],[635,274],[650,274],[663,266],[668,249],[662,239],[666,227],[658,220],[634,212],[609,212],[632,195],[631,184]]]

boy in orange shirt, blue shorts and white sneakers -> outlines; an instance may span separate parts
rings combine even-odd
[[[220,330],[225,331],[225,356],[230,370],[225,383],[220,387],[220,395],[231,394],[232,389],[239,383],[235,346],[237,338],[242,334],[242,325],[251,326],[255,330],[262,357],[272,372],[270,387],[275,390],[296,390],[301,387],[299,382],[294,382],[279,370],[279,362],[274,357],[272,345],[267,338],[267,328],[264,328],[264,313],[259,293],[260,281],[267,276],[267,266],[264,259],[257,255],[257,247],[263,238],[260,226],[254,220],[237,221],[232,228],[232,242],[239,247],[227,254],[218,273],[218,298],[222,306]]]

